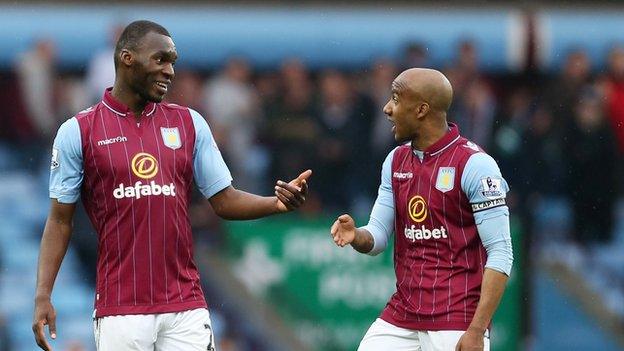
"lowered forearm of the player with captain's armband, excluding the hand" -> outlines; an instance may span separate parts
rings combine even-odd
[[[485,268],[481,282],[481,298],[468,329],[485,332],[505,292],[507,275]]]

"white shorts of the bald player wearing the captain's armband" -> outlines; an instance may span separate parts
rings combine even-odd
[[[358,351],[455,351],[462,330],[420,331],[400,328],[381,318],[364,335]],[[483,350],[490,350],[489,337],[483,337]]]

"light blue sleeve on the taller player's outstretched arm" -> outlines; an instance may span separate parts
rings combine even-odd
[[[197,111],[190,110],[195,126],[195,149],[193,150],[193,169],[195,183],[206,198],[232,184],[232,175],[219,147],[212,136],[204,117]]]

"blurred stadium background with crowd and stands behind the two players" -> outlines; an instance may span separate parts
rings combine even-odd
[[[516,261],[493,350],[624,349],[623,10],[0,3],[0,350],[35,350],[56,128],[99,99],[115,31],[140,18],[170,30],[180,59],[168,100],[207,118],[237,187],[269,194],[276,179],[315,171],[291,216],[223,222],[197,196],[196,257],[220,350],[352,350],[383,308],[391,256],[338,249],[328,228],[345,211],[366,220],[393,143],[381,106],[412,66],[448,75],[450,119],[512,188]],[[94,349],[95,250],[79,214],[53,294],[58,350]]]

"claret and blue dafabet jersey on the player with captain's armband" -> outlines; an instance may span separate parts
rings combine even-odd
[[[412,330],[466,330],[485,267],[510,274],[508,186],[494,159],[450,124],[427,150],[401,145],[382,167],[366,228],[370,254],[395,233],[397,291],[381,318]]]

